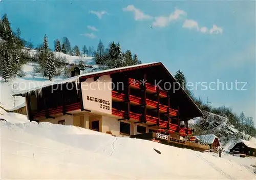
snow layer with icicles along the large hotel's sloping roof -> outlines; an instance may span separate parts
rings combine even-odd
[[[81,75],[74,76],[74,77],[71,77],[71,78],[67,78],[67,79],[64,79],[64,80],[53,81],[53,82],[50,82],[49,84],[45,84],[45,85],[42,85],[42,86],[37,86],[37,87],[34,87],[34,88],[25,89],[23,91],[18,91],[18,92],[15,92],[14,95],[21,95],[21,94],[25,94],[25,93],[31,93],[33,91],[40,92],[42,88],[48,87],[48,86],[51,86],[51,85],[55,85],[55,84],[65,84],[67,82],[76,82],[76,84],[78,84],[79,77],[82,77],[82,76],[90,76],[90,75],[96,75],[96,74],[100,74],[100,73],[108,73],[108,72],[112,72],[112,71],[124,70],[124,69],[127,69],[127,68],[136,68],[136,67],[140,67],[140,66],[144,66],[144,65],[151,65],[151,64],[156,64],[156,63],[159,63],[159,62],[143,63],[143,64],[137,64],[137,65],[131,65],[131,66],[124,66],[124,67],[121,67],[121,68],[114,68],[114,69],[109,69],[109,70],[102,70],[102,71],[96,71],[96,72],[92,72],[92,73],[81,74]]]

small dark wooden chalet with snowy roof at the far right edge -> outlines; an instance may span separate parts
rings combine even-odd
[[[256,142],[240,140],[229,147],[230,154],[244,154],[256,157]]]

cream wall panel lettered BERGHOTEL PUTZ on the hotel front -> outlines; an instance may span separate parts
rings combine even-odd
[[[83,108],[112,114],[112,79],[100,76],[96,81],[89,78],[81,82]]]

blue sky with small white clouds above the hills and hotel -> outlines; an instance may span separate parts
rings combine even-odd
[[[83,44],[96,49],[99,39],[105,46],[116,41],[143,63],[161,61],[172,74],[182,70],[203,101],[208,96],[213,106],[226,105],[256,119],[253,1],[2,0],[4,13],[35,46],[45,34],[50,48],[63,36],[80,49]],[[195,89],[196,82],[209,87],[218,81],[233,83],[233,90],[214,90],[214,83],[212,90]],[[246,82],[246,91],[236,90],[236,81]]]

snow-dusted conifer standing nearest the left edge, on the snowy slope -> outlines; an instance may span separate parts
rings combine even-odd
[[[11,77],[11,62],[10,62],[10,56],[7,52],[5,51],[5,56],[3,59],[3,62],[1,64],[1,76],[5,79],[5,82],[8,82],[7,80]]]

